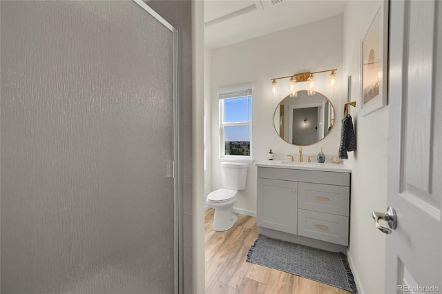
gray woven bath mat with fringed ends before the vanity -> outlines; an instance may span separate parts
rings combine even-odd
[[[276,268],[356,294],[356,284],[344,253],[258,235],[247,254],[247,262]]]

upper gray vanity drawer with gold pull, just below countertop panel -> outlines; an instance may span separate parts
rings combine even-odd
[[[335,215],[349,215],[349,187],[299,183],[298,208]]]

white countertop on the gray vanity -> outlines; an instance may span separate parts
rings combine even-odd
[[[282,160],[265,160],[256,164],[258,167],[264,168],[288,168],[294,170],[320,170],[332,171],[336,173],[352,173],[352,170],[344,164],[334,164],[332,162],[325,162],[319,164],[318,162],[291,162]]]

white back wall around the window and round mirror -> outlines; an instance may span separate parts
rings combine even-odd
[[[238,192],[235,207],[256,212],[256,162],[267,159],[271,148],[273,153],[298,155],[298,146],[287,144],[276,134],[273,127],[273,111],[286,94],[278,98],[270,95],[273,77],[292,75],[295,72],[318,71],[338,68],[343,76],[343,14],[320,21],[298,26],[263,37],[211,51],[211,188],[221,188],[219,160],[219,103],[218,88],[238,84],[253,83],[252,113],[252,156],[255,160],[249,166],[247,188]],[[344,81],[344,79],[340,79]],[[318,92],[332,101],[339,121],[343,116],[343,101],[346,101],[347,88],[344,82],[331,92],[327,89],[327,73],[316,75]],[[287,92],[288,79],[280,80],[281,90]],[[298,84],[298,89],[305,89]],[[320,147],[326,154],[337,154],[340,124],[318,144],[303,147],[307,154],[317,155]],[[330,158],[328,158],[330,159]]]

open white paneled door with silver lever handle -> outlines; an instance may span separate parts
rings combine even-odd
[[[397,226],[387,236],[385,293],[440,292],[442,2],[390,5],[387,206]]]

